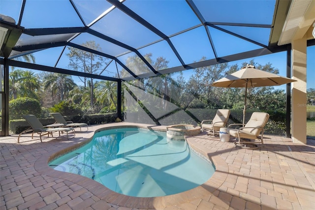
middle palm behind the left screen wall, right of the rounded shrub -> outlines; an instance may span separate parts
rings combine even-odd
[[[52,96],[57,95],[60,101],[76,86],[70,75],[62,73],[49,73],[43,81],[44,89],[51,88]]]

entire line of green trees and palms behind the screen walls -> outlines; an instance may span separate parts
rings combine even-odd
[[[82,45],[92,49],[100,48],[94,41],[88,41]],[[107,59],[99,55],[72,47],[68,49],[68,67],[72,70],[96,73],[103,70],[103,67],[108,64]],[[154,59],[152,53],[148,53],[144,55],[144,58],[156,70],[168,68],[169,61],[163,57]],[[23,59],[34,62],[32,56]],[[206,58],[202,58],[200,61],[204,60]],[[192,70],[189,77],[185,76],[183,72],[177,72],[132,80],[127,84],[140,88],[144,93],[154,96],[150,100],[144,99],[142,103],[161,111],[167,110],[171,104],[183,110],[188,108],[243,109],[244,88],[218,88],[212,87],[211,84],[240,70],[247,64],[255,66],[256,69],[279,73],[279,70],[272,67],[270,63],[261,65],[251,60],[241,65],[223,63],[197,68]],[[126,59],[126,67],[135,74],[151,71],[136,55],[129,56]],[[124,77],[126,74],[127,71],[121,69],[116,76]],[[9,73],[9,97],[10,100],[23,97],[36,99],[44,107],[44,110],[49,108],[50,111],[64,112],[64,115],[67,114],[65,113],[66,109],[85,113],[106,113],[117,110],[116,82],[95,81],[93,78],[86,77],[79,77],[79,79],[83,85],[77,85],[72,77],[67,74],[52,72],[36,74],[31,70],[12,69]],[[124,83],[123,89],[128,90]],[[315,90],[309,89],[309,102],[313,98],[315,98]],[[275,87],[249,88],[247,108],[284,112],[285,101],[284,90]]]

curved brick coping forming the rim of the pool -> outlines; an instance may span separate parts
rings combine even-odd
[[[76,147],[82,146],[87,142],[91,141],[95,133],[115,128],[124,128],[124,127],[135,127],[135,128],[144,128],[144,129],[152,129],[155,131],[166,131],[166,127],[164,126],[143,126],[143,125],[134,125],[121,123],[123,125],[107,125],[106,127],[95,130],[95,132],[91,132],[89,138],[75,140],[72,145],[60,147],[59,149],[54,150],[53,152],[47,153],[41,157],[39,157],[34,163],[34,169],[38,173],[42,175],[47,175],[55,178],[60,178],[67,180],[69,182],[78,184],[96,197],[101,200],[106,201],[107,203],[114,204],[117,206],[127,207],[127,208],[136,208],[136,209],[154,209],[154,208],[165,208],[168,206],[180,205],[183,203],[189,203],[191,201],[203,198],[205,196],[211,196],[211,194],[216,191],[225,181],[228,175],[228,166],[225,161],[220,156],[209,157],[207,152],[207,148],[203,147],[201,144],[197,143],[193,138],[187,138],[187,142],[189,146],[201,153],[203,156],[209,158],[212,163],[216,167],[215,173],[208,179],[204,184],[190,189],[188,191],[168,195],[161,197],[152,197],[152,198],[140,198],[140,197],[132,197],[126,196],[123,194],[116,193],[101,183],[87,178],[81,175],[70,174],[66,172],[56,171],[48,166],[48,162],[55,158],[56,156],[65,153],[69,150],[72,150]]]

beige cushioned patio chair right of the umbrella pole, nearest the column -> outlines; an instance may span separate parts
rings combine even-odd
[[[238,139],[238,143],[247,142],[247,140],[259,140],[263,141],[264,127],[269,119],[269,114],[265,112],[253,112],[251,119],[245,124],[244,127],[239,129],[232,129],[233,126],[243,126],[243,124],[230,124],[227,132],[230,136]],[[260,135],[260,138],[259,138]]]

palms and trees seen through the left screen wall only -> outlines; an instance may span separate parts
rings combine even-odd
[[[77,85],[70,75],[52,72],[34,73],[31,70],[12,70],[9,73],[9,99],[32,98],[50,111],[65,112],[65,106],[78,112],[107,113],[117,108],[117,83],[97,81],[91,97],[91,83]],[[92,101],[92,102],[91,102]],[[70,113],[70,112],[69,112]],[[78,114],[78,113],[77,113]]]

